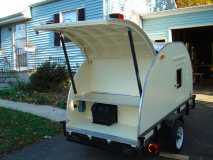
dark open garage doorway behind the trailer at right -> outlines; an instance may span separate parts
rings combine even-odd
[[[193,66],[194,83],[205,85],[213,80],[213,26],[172,29],[172,41],[187,47]]]

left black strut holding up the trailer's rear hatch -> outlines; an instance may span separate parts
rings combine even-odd
[[[72,71],[71,66],[70,66],[70,61],[69,61],[69,57],[68,57],[68,54],[67,54],[66,45],[65,45],[65,42],[64,42],[64,36],[63,36],[62,33],[59,33],[59,35],[60,35],[60,41],[61,41],[61,44],[62,44],[62,48],[63,48],[63,51],[64,51],[64,56],[65,56],[65,60],[66,60],[66,64],[67,64],[68,74],[69,74],[69,77],[70,77],[70,80],[71,80],[71,83],[72,83],[72,87],[73,87],[73,92],[74,92],[74,94],[77,94],[77,89],[76,89],[75,81],[74,81],[74,78],[73,78],[73,71]]]

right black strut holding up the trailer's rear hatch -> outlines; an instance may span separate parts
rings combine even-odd
[[[129,37],[129,43],[130,43],[130,47],[131,47],[133,64],[134,64],[134,68],[135,68],[135,75],[136,75],[137,83],[138,83],[139,95],[141,97],[141,95],[142,95],[142,85],[141,85],[141,80],[140,80],[140,75],[139,75],[137,56],[136,56],[136,53],[135,53],[135,45],[134,45],[134,41],[133,41],[133,37],[132,37],[131,28],[128,28],[128,37]]]

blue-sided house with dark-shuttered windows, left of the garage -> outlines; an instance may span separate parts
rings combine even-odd
[[[113,12],[113,6],[120,6],[120,1],[45,0],[31,5],[27,15],[18,13],[1,18],[0,69],[26,71],[36,68],[45,61],[64,63],[58,35],[51,32],[36,34],[33,27],[53,22],[104,19]],[[138,23],[141,24],[141,21]],[[66,42],[71,65],[77,68],[85,57],[75,44],[67,39]]]

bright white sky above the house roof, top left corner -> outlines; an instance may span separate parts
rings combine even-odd
[[[42,0],[0,0],[0,17],[24,11],[28,5]]]

